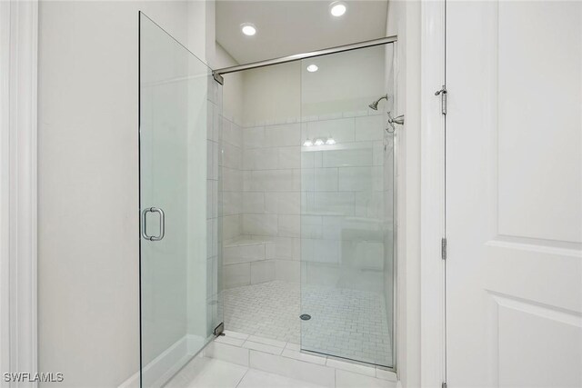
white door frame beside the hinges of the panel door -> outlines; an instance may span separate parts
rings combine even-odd
[[[447,381],[445,134],[446,0],[421,3],[420,101],[420,386]]]

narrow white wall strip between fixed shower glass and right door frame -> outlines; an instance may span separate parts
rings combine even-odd
[[[396,369],[420,386],[420,2],[388,2],[386,35],[397,35],[398,134]]]

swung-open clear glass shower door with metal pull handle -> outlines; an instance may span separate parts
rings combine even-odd
[[[221,89],[203,62],[143,14],[139,33],[141,383],[150,387],[166,383],[222,322]]]

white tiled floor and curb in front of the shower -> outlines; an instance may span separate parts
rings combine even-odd
[[[166,388],[400,388],[396,373],[364,363],[301,353],[296,343],[226,330]]]

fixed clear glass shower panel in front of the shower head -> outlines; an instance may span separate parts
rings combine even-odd
[[[301,348],[388,367],[395,143],[385,128],[393,64],[393,45],[378,45],[306,59],[301,70],[301,313],[310,315]]]

